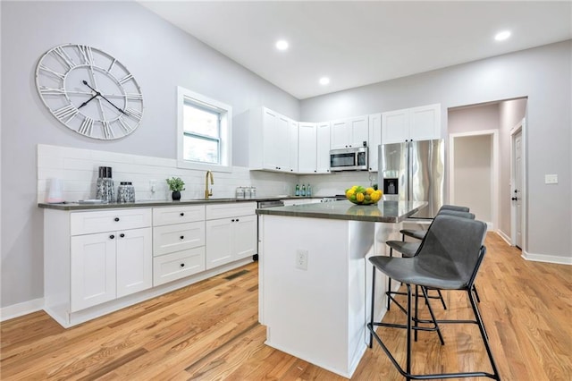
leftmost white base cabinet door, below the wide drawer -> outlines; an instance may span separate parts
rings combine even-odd
[[[115,233],[71,237],[71,312],[115,299]]]

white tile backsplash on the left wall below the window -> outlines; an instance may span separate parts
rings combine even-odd
[[[72,202],[96,197],[97,169],[111,166],[115,185],[132,182],[138,200],[168,200],[171,191],[165,179],[181,177],[185,182],[182,199],[202,199],[205,191],[206,171],[177,167],[175,159],[144,157],[80,148],[38,144],[38,202],[45,202],[51,179],[63,180],[63,199]],[[150,190],[150,181],[156,181],[156,191]],[[257,187],[257,196],[291,195],[299,176],[249,171],[235,166],[231,173],[214,173],[215,198],[233,198],[239,186]]]

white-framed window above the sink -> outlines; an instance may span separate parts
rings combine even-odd
[[[231,171],[231,106],[178,88],[180,167]]]

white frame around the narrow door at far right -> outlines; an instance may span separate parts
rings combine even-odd
[[[525,252],[526,248],[526,116],[517,123],[512,129],[510,129],[510,194],[515,192],[515,174],[516,166],[514,161],[514,151],[515,151],[515,135],[521,132],[522,140],[520,143],[520,155],[523,158],[522,162],[522,190],[521,190],[521,215],[520,215],[520,233],[521,233],[521,245],[520,248],[522,252]],[[517,242],[517,207],[513,202],[510,202],[510,246],[516,246]]]

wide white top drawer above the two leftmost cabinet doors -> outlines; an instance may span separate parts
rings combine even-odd
[[[132,208],[73,212],[70,214],[71,235],[116,232],[151,226],[151,209]]]

